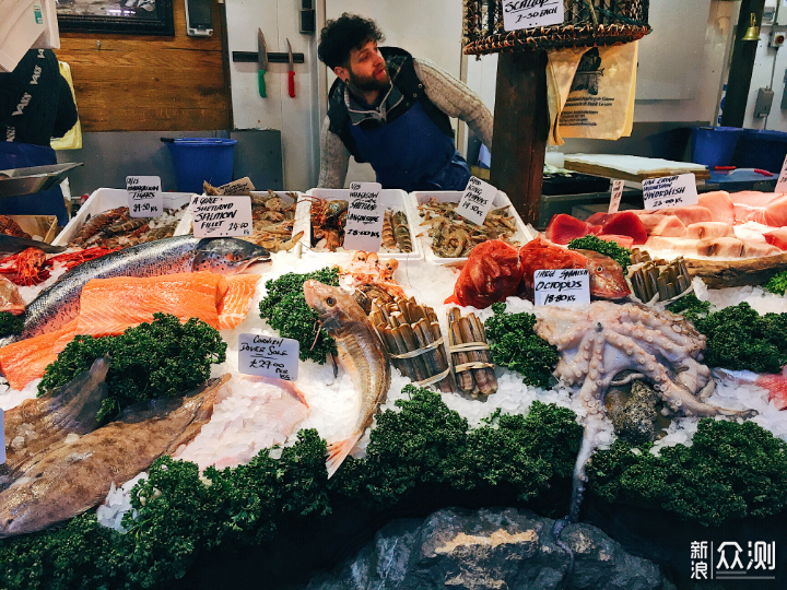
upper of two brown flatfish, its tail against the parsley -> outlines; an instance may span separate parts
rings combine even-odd
[[[34,463],[39,453],[98,427],[96,415],[107,397],[109,356],[97,358],[89,370],[68,384],[5,412],[5,463],[0,465],[0,489]]]

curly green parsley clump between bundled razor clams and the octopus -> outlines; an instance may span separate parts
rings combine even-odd
[[[533,332],[536,316],[507,314],[502,303],[492,304],[492,310],[494,316],[484,323],[492,362],[520,373],[527,385],[547,389],[560,355]]]

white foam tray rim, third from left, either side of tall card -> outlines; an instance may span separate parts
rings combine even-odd
[[[320,257],[320,258],[346,258],[350,255],[349,250],[341,249],[338,252],[325,252],[317,251],[310,248],[312,245],[312,201],[307,197],[316,197],[318,199],[326,199],[327,201],[336,201],[339,199],[348,200],[350,198],[350,189],[320,189],[314,188],[306,191],[306,197],[298,200],[298,212],[295,213],[297,222],[302,225],[295,226],[295,229],[304,231],[303,240],[303,256],[304,257]],[[379,202],[386,209],[392,209],[393,211],[403,211],[408,217],[408,225],[410,226],[410,240],[413,245],[412,252],[378,252],[380,260],[387,260],[395,258],[397,260],[421,260],[423,252],[418,239],[415,239],[416,220],[413,219],[412,212],[407,206],[407,192],[399,189],[383,189],[379,193]],[[297,223],[296,222],[296,223]]]

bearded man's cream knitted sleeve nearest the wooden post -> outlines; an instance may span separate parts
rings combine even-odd
[[[492,114],[481,97],[467,84],[428,59],[414,60],[415,74],[423,82],[426,95],[437,108],[449,117],[465,121],[482,143],[492,151]]]

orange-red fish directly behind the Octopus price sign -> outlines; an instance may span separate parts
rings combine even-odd
[[[587,269],[592,297],[622,299],[631,295],[620,264],[592,250],[568,250],[537,237],[519,249],[519,259],[524,268],[520,292],[530,300],[533,298],[533,273],[553,269]]]

